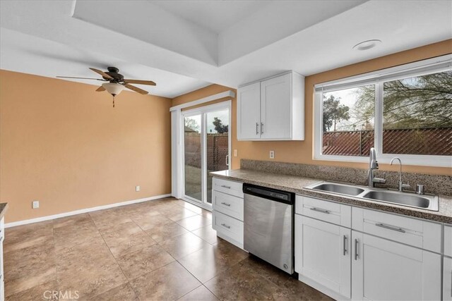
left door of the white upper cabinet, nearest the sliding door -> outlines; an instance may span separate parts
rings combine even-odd
[[[237,140],[261,137],[261,83],[237,90]]]

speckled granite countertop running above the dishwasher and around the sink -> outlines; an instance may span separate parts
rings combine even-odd
[[[321,179],[303,178],[299,176],[288,176],[280,173],[267,173],[263,171],[253,171],[247,169],[234,169],[232,171],[215,171],[210,173],[216,178],[225,178],[227,180],[237,180],[243,183],[260,185],[263,187],[295,192],[299,195],[309,197],[319,197],[334,202],[350,204],[357,207],[365,207],[388,211],[395,214],[413,216],[419,219],[428,219],[440,223],[452,223],[452,197],[439,196],[439,211],[429,211],[412,207],[404,207],[396,204],[383,202],[374,202],[367,199],[358,199],[356,197],[347,197],[328,192],[319,192],[305,188],[308,185],[319,183]]]

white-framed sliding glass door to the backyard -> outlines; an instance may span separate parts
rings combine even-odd
[[[212,204],[211,171],[230,166],[230,102],[182,112],[184,126],[184,198]]]

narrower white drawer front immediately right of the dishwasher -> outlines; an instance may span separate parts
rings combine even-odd
[[[347,228],[352,223],[352,207],[302,195],[295,198],[295,213]]]

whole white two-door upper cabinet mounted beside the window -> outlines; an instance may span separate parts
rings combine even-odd
[[[294,72],[240,87],[238,140],[304,140],[304,77]]]

